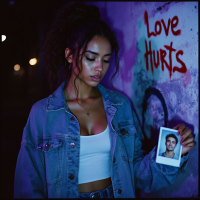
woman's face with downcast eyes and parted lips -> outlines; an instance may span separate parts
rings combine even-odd
[[[108,39],[94,36],[88,43],[86,52],[83,53],[82,71],[78,76],[79,79],[87,85],[97,86],[108,70],[110,57],[111,45]],[[72,73],[77,75],[78,69],[74,66],[76,66],[75,59]],[[80,62],[79,66],[81,68]]]

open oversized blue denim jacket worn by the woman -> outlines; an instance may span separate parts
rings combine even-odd
[[[14,198],[78,198],[80,126],[65,102],[65,82],[54,95],[36,102],[23,131]],[[129,100],[96,86],[103,97],[111,141],[111,180],[115,198],[135,197],[135,188],[154,192],[175,182],[180,167],[155,162],[156,147],[145,155],[142,131]]]

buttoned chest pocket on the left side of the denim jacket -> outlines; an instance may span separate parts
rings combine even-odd
[[[61,138],[47,138],[37,146],[37,149],[41,149],[44,153],[47,184],[55,184],[62,180],[62,143]]]

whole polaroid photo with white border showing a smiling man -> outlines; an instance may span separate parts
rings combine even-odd
[[[156,162],[179,167],[181,162],[182,145],[177,130],[160,127]]]

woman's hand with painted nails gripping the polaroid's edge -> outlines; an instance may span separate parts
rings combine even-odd
[[[177,135],[180,135],[180,142],[182,145],[182,154],[187,153],[195,147],[194,137],[191,129],[187,128],[185,124],[178,124],[173,129],[178,130]]]

